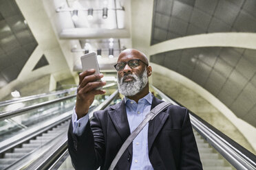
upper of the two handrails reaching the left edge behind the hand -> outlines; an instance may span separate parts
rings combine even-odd
[[[58,91],[53,91],[50,93],[42,93],[39,95],[31,95],[31,96],[26,96],[26,97],[19,97],[16,99],[10,99],[10,100],[6,100],[6,101],[0,101],[0,107],[2,106],[6,106],[9,104],[16,104],[16,103],[20,103],[20,102],[24,102],[24,101],[30,101],[30,100],[34,100],[34,99],[39,99],[39,98],[43,98],[43,97],[48,97],[48,96],[52,96],[52,95],[60,95],[63,93],[70,93],[76,90],[75,88],[69,88],[69,89],[65,89],[65,90],[58,90]]]

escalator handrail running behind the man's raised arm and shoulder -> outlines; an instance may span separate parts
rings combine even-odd
[[[103,101],[102,104],[89,112],[89,118],[92,119],[94,111],[106,108],[117,95],[118,90],[112,93],[105,101]],[[36,160],[30,162],[29,165],[26,165],[25,169],[48,169],[50,165],[56,162],[56,158],[60,157],[63,152],[67,150],[67,136],[65,137],[65,140],[62,140],[61,145],[54,145],[53,147],[54,148],[52,148],[50,151],[45,151],[43,156],[39,156],[39,158],[36,158]]]

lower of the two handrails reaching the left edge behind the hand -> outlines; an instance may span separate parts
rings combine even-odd
[[[61,97],[61,98],[58,98],[58,99],[53,99],[53,100],[50,100],[50,101],[44,101],[40,104],[34,104],[32,106],[27,106],[27,107],[20,108],[18,110],[14,110],[14,111],[10,111],[10,112],[1,112],[0,113],[0,121],[3,120],[3,119],[10,119],[11,117],[16,117],[19,114],[23,114],[23,112],[25,112],[25,111],[32,110],[34,108],[40,108],[42,106],[46,106],[46,105],[49,105],[49,104],[54,104],[56,102],[63,101],[65,99],[70,99],[72,97],[76,97],[76,94]]]

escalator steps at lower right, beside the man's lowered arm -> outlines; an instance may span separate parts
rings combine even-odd
[[[195,130],[193,132],[204,170],[233,170],[231,165],[228,165],[224,158],[198,132]]]

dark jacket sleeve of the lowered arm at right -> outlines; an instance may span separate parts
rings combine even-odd
[[[189,119],[189,112],[186,110],[182,124],[182,145],[181,145],[180,169],[202,169],[202,163],[198,153],[198,146]]]

